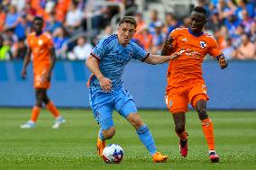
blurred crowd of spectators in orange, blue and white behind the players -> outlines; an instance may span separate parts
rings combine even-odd
[[[136,5],[135,0],[0,0],[0,60],[24,58],[26,36],[32,31],[33,18],[38,15],[45,21],[44,30],[52,35],[59,59],[86,59],[99,38],[113,33],[110,22],[119,8],[99,5],[104,1],[122,2],[126,9]],[[256,59],[255,0],[197,2],[207,10],[205,31],[215,37],[226,58]],[[74,36],[87,31],[87,6],[93,12],[94,32],[90,36],[94,39],[88,40],[82,34],[72,41]],[[144,13],[128,14],[134,15],[138,22],[133,41],[158,54],[169,32],[187,27],[189,21],[189,16],[180,18],[175,13],[165,13],[165,18],[160,18],[157,9],[150,11],[149,20]]]

